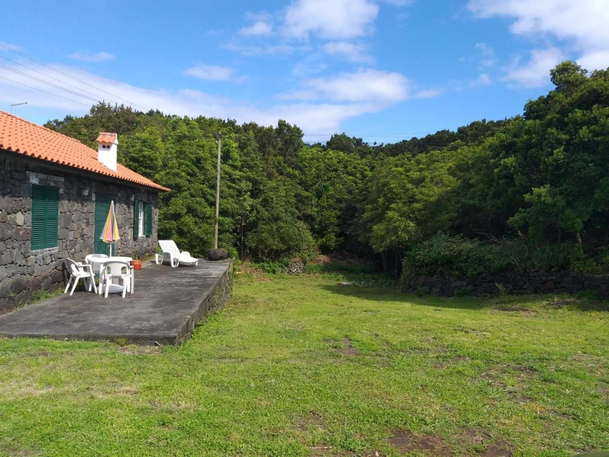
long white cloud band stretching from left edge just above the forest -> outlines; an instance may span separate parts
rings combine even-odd
[[[278,119],[286,119],[288,122],[297,124],[305,132],[309,133],[315,131],[340,131],[340,126],[345,120],[362,114],[381,111],[390,105],[390,103],[403,99],[407,92],[406,88],[401,87],[406,84],[406,78],[397,74],[385,74],[386,85],[396,87],[393,87],[393,89],[368,88],[364,93],[359,92],[359,95],[351,96],[349,91],[357,89],[357,77],[352,77],[350,82],[351,88],[343,89],[339,96],[331,97],[330,101],[327,99],[320,100],[319,102],[301,100],[298,102],[276,103],[274,105],[258,107],[193,89],[145,89],[117,80],[102,78],[70,66],[54,65],[54,67],[114,94],[114,96],[108,96],[101,92],[99,97],[92,96],[96,100],[105,99],[106,101],[118,101],[121,103],[124,101],[121,99],[125,99],[130,102],[125,102],[126,104],[143,110],[155,108],[164,113],[177,114],[179,116],[195,117],[203,115],[220,117],[222,119],[236,119],[238,122],[253,120],[261,125],[276,125]],[[38,66],[32,66],[32,68],[48,71],[48,69]],[[74,100],[70,101],[54,97],[50,94],[26,88],[0,78],[0,103],[7,104],[14,103],[15,100],[27,100],[29,106],[43,108],[58,117],[65,116],[66,114],[84,114],[88,112],[91,104],[96,103],[96,100],[82,99],[73,94],[57,91],[49,86],[24,78],[21,75],[10,73],[5,69],[0,69],[0,77],[10,78],[16,82]],[[346,79],[349,82],[349,78]],[[395,80],[395,82],[391,83],[392,80]],[[339,82],[336,80],[334,84],[339,85]],[[80,87],[80,84],[77,82],[74,82],[74,85]],[[97,92],[96,89],[92,89],[89,86],[82,86],[82,90]],[[327,97],[328,94],[326,92],[322,91],[321,95]],[[121,99],[118,99],[118,97]],[[340,103],[332,100],[340,100]],[[84,105],[80,103],[84,103]]]

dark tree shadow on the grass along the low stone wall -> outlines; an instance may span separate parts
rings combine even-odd
[[[417,296],[402,293],[396,287],[359,287],[357,285],[322,285],[323,289],[343,296],[376,301],[409,303],[435,308],[451,309],[498,309],[505,312],[523,312],[538,309],[574,309],[580,311],[609,312],[609,302],[597,301],[568,294],[538,294],[538,295],[492,295],[486,297],[446,298],[432,295]]]

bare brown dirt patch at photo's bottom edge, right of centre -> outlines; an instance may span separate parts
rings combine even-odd
[[[437,435],[416,434],[407,430],[394,430],[389,438],[389,444],[398,449],[400,453],[418,452],[429,456],[452,456],[455,453],[465,452],[465,455],[484,457],[510,457],[510,446],[502,441],[495,440],[484,431],[468,429],[450,438]]]

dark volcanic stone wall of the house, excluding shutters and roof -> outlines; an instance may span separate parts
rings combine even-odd
[[[65,287],[64,259],[93,253],[96,192],[116,195],[119,255],[153,254],[157,245],[158,194],[141,187],[12,161],[0,156],[0,313],[32,299],[38,290]],[[32,251],[32,184],[59,190],[58,246]],[[133,239],[134,201],[153,203],[152,236]]]

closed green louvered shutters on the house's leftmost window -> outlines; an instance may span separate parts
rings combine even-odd
[[[32,250],[57,247],[59,189],[32,186]]]

